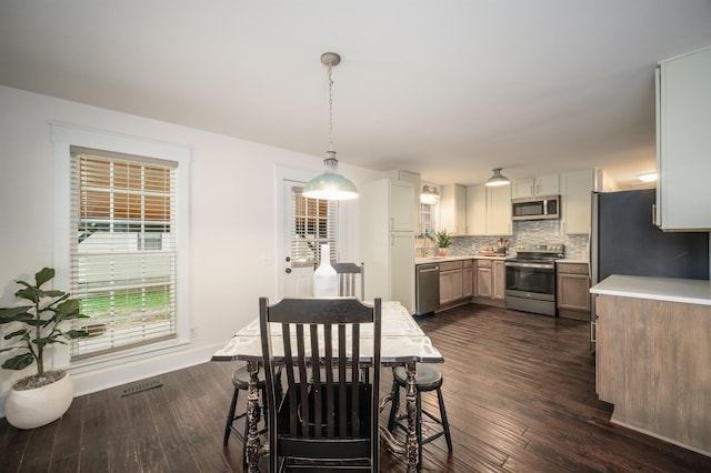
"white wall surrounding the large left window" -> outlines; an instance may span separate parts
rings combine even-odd
[[[192,149],[189,318],[197,336],[188,350],[150,363],[72,373],[77,393],[208,361],[229,334],[258,315],[260,295],[276,296],[277,264],[262,265],[262,256],[274,254],[277,244],[274,167],[316,174],[323,158],[0,87],[0,306],[16,303],[13,281],[31,279],[42,266],[52,265],[50,122]],[[380,177],[344,163],[340,169],[357,184]],[[344,218],[341,256],[356,261],[358,201],[344,203]],[[0,344],[4,346],[4,341]],[[0,370],[0,396],[32,370]]]

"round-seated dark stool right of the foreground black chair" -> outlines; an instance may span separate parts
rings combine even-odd
[[[390,409],[390,419],[388,420],[388,430],[390,432],[394,432],[397,427],[400,427],[408,431],[407,424],[401,422],[407,419],[407,414],[398,415],[398,410],[400,409],[400,388],[408,386],[408,374],[402,366],[395,366],[392,369],[392,407]],[[428,391],[437,390],[437,399],[440,406],[440,417],[435,417],[433,414],[427,412],[422,409],[422,393]],[[442,373],[424,363],[418,364],[417,372],[417,436],[418,436],[418,445],[419,456],[418,464],[422,465],[422,446],[427,443],[432,442],[434,439],[439,439],[444,435],[447,439],[447,447],[450,453],[452,452],[452,436],[449,432],[449,422],[447,421],[447,412],[444,411],[444,397],[442,396]],[[433,423],[441,425],[441,430],[435,432],[433,435],[428,436],[427,439],[422,439],[422,414],[427,415]]]

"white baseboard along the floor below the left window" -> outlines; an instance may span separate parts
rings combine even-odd
[[[82,372],[69,370],[72,381],[74,382],[74,397],[183,368],[194,366],[196,364],[207,363],[212,358],[212,353],[221,348],[223,348],[223,344],[203,346],[197,350],[180,350],[160,356],[136,360],[130,363],[110,368],[83,370]],[[4,417],[4,402],[8,394],[7,392],[0,394],[0,417]]]

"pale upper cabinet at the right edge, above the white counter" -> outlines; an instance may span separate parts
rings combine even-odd
[[[657,69],[657,224],[711,230],[711,48]]]

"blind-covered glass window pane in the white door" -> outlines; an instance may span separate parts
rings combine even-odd
[[[309,199],[302,195],[303,188],[291,188],[292,268],[318,265],[321,262],[321,244],[330,244],[331,261],[338,254],[338,202]]]

